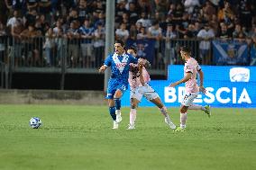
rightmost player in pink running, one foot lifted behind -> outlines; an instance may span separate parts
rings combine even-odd
[[[170,87],[175,87],[176,85],[185,83],[186,94],[180,106],[180,127],[178,127],[176,131],[185,130],[187,121],[187,110],[202,110],[206,112],[208,116],[211,115],[209,105],[201,106],[193,103],[194,99],[197,98],[197,94],[199,94],[199,92],[203,92],[204,94],[206,94],[206,89],[203,86],[204,73],[201,67],[198,65],[197,60],[195,58],[192,58],[190,56],[190,53],[191,50],[187,47],[182,47],[180,49],[180,56],[186,61],[184,66],[184,77],[177,82],[169,85]],[[200,76],[199,87],[196,80],[197,72]]]

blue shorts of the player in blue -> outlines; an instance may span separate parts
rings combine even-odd
[[[128,88],[128,84],[124,84],[120,79],[110,78],[108,81],[106,99],[114,99],[114,93],[116,90],[121,90],[124,93]]]

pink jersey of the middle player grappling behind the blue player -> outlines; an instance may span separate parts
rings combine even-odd
[[[138,67],[138,64],[131,63],[130,66],[131,67]],[[144,78],[144,82],[145,83],[148,83],[148,82],[151,81],[150,74],[148,73],[148,71],[147,71],[147,69],[145,67],[142,68],[142,76]],[[139,73],[139,71],[137,71],[137,72],[129,71],[128,82],[129,82],[129,84],[131,86],[131,89],[134,89],[134,88],[136,88],[138,86],[142,86],[142,83],[140,81],[140,73]]]

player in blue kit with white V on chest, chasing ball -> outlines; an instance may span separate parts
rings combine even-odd
[[[114,121],[113,129],[118,129],[121,117],[121,97],[128,88],[130,63],[136,64],[137,58],[127,54],[122,40],[114,43],[114,54],[105,58],[104,65],[99,68],[99,73],[104,73],[107,67],[111,68],[111,77],[108,81],[106,99],[108,99],[109,113]]]

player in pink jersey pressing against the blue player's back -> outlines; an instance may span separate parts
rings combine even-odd
[[[131,47],[127,49],[127,53],[132,54],[136,57],[136,49]],[[147,59],[139,58],[138,64],[130,64],[129,71],[129,84],[131,87],[130,100],[131,100],[131,111],[130,111],[130,123],[127,130],[135,129],[135,120],[138,107],[138,104],[142,100],[142,96],[144,96],[151,103],[154,103],[160,109],[160,112],[165,117],[165,122],[169,125],[169,128],[176,129],[176,126],[170,121],[169,115],[167,112],[167,108],[160,100],[159,94],[155,92],[155,90],[149,85],[151,81],[151,77],[146,69],[146,67],[150,66],[150,62]]]

